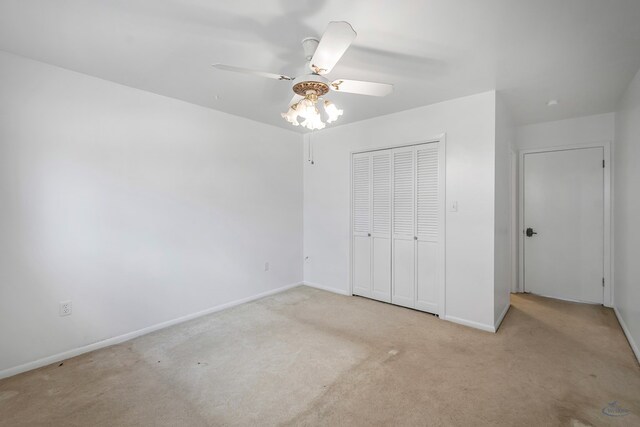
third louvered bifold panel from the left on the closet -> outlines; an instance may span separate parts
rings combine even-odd
[[[415,147],[392,150],[391,302],[415,308]]]

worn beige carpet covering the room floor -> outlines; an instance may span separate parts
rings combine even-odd
[[[640,425],[612,310],[512,304],[490,334],[299,287],[2,380],[0,425]]]

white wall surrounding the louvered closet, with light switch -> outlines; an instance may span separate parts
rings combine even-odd
[[[446,215],[446,315],[493,329],[495,101],[486,92],[313,133],[315,164],[304,168],[305,282],[349,291],[350,153],[446,133],[446,198],[458,201]]]

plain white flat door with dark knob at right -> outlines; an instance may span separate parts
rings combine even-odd
[[[524,290],[603,302],[602,148],[524,155]]]

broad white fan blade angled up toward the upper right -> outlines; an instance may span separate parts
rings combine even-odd
[[[335,67],[355,38],[356,32],[348,22],[329,22],[309,66],[315,73],[327,74]]]

